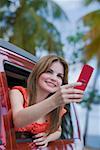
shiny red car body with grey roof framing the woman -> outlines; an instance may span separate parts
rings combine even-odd
[[[15,45],[0,40],[0,148],[6,150],[31,150],[28,142],[16,142],[11,106],[9,100],[9,86],[4,68],[4,64],[18,66],[24,70],[31,70],[34,68],[38,59],[32,54],[16,47]],[[9,74],[9,71],[8,71]],[[61,139],[49,143],[46,149],[51,150],[76,150],[76,142],[82,146],[81,132],[77,117],[77,112],[74,104],[71,104],[71,114],[74,136],[73,139]],[[76,124],[76,125],[75,125]],[[79,148],[79,146],[78,146]],[[79,149],[81,150],[81,148]]]

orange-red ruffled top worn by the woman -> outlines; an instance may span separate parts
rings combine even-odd
[[[17,89],[22,93],[23,98],[24,98],[23,107],[24,108],[28,107],[27,89],[22,86],[14,86],[12,89]],[[66,110],[63,108],[61,111],[61,116],[63,116],[64,113],[66,113]],[[43,123],[34,122],[34,123],[27,125],[25,127],[22,127],[22,128],[15,128],[15,131],[20,131],[20,132],[28,131],[33,134],[38,134],[40,132],[46,132],[49,129],[49,125],[50,125],[49,121],[43,122]]]

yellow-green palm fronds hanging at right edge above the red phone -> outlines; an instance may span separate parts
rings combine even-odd
[[[93,56],[100,61],[100,10],[93,11],[83,17],[85,26],[89,27],[84,35],[86,60]],[[89,42],[87,42],[89,41]]]

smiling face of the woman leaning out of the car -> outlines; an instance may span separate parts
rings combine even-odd
[[[49,93],[54,93],[62,85],[64,78],[63,65],[55,61],[42,73],[38,79],[38,89]]]

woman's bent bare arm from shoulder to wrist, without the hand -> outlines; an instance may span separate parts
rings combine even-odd
[[[21,92],[13,89],[9,94],[13,121],[16,127],[24,127],[31,124],[57,107],[54,98],[50,97],[38,104],[23,108],[24,99]]]

